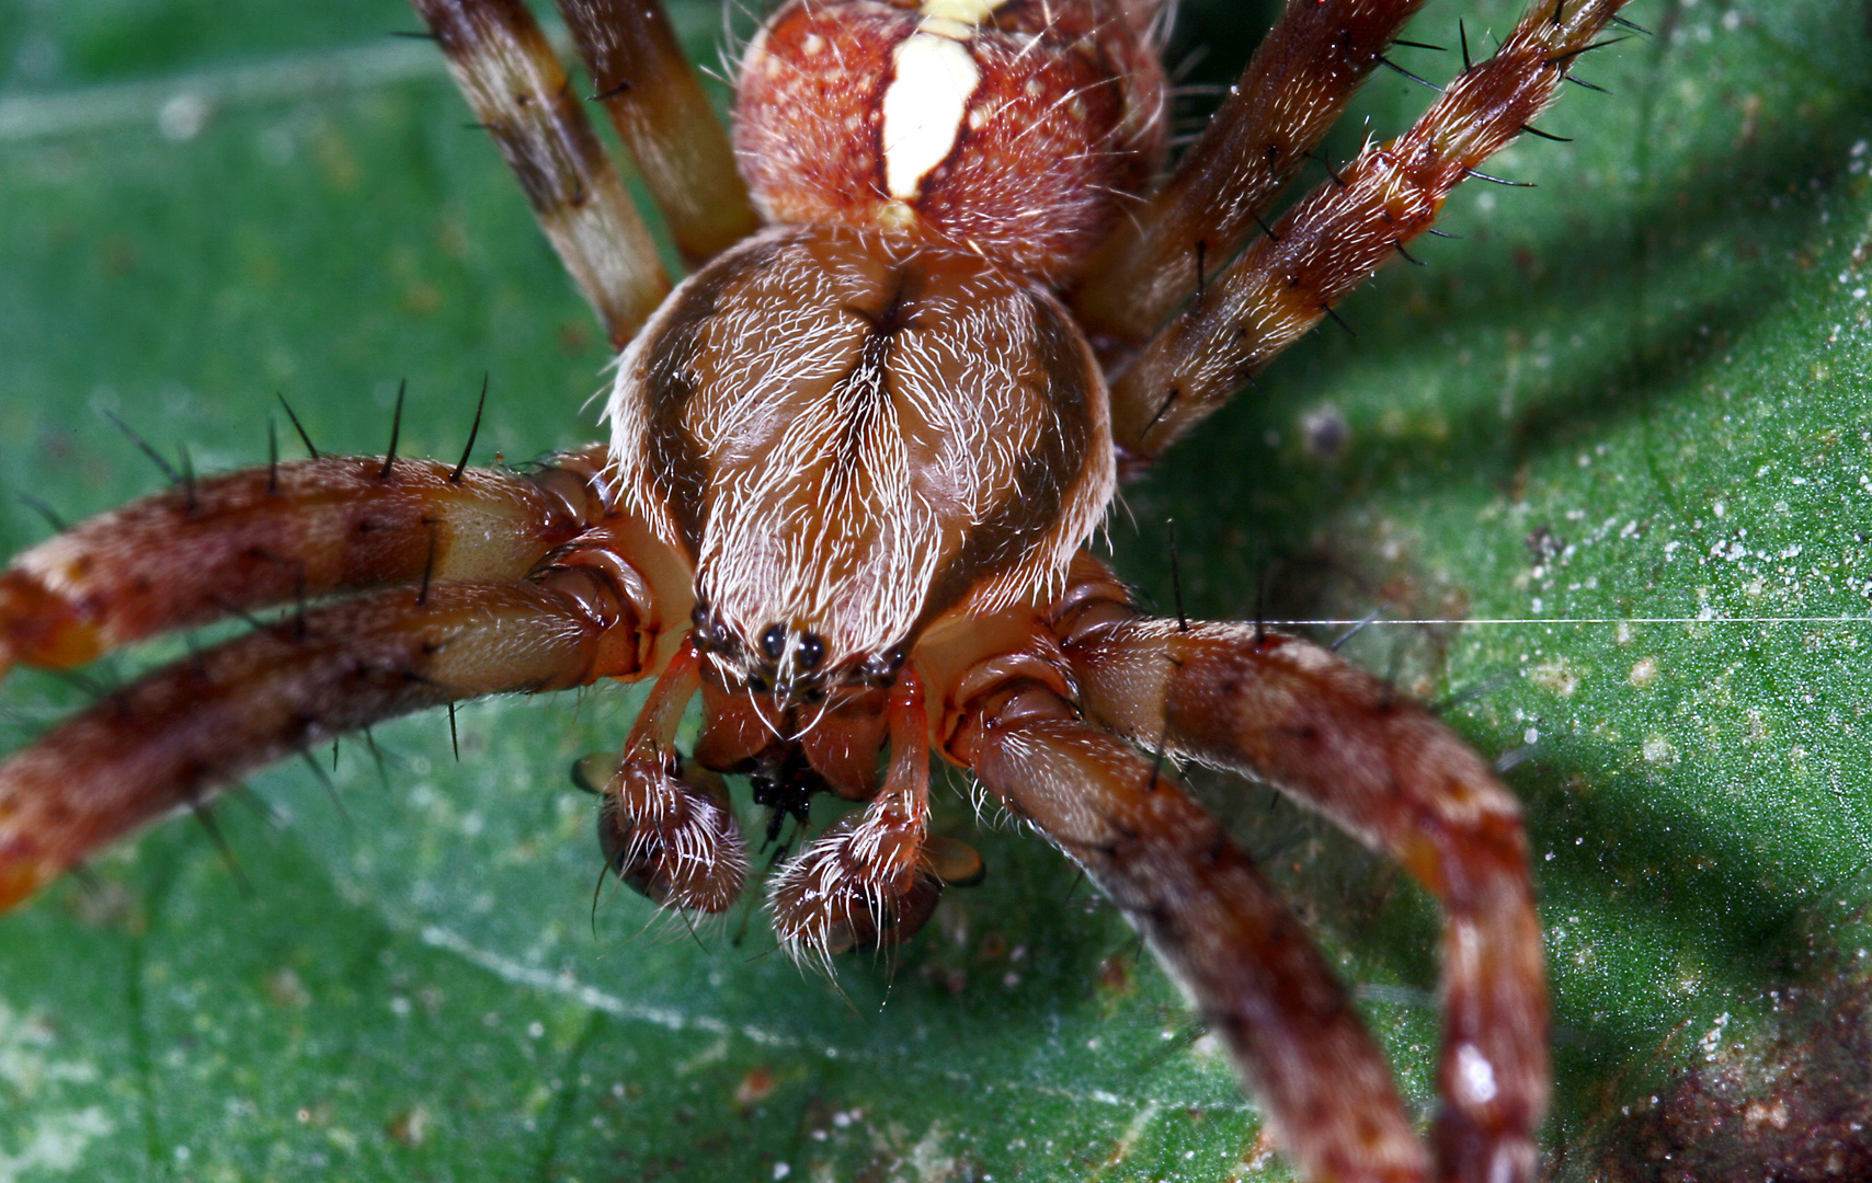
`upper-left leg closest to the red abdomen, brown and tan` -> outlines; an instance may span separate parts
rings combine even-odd
[[[663,4],[558,0],[595,99],[695,268],[760,228],[734,150]]]

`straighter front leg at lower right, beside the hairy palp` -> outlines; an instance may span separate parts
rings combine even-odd
[[[1174,773],[1013,678],[945,743],[1125,912],[1224,1043],[1307,1179],[1421,1183],[1391,1071],[1305,928]]]

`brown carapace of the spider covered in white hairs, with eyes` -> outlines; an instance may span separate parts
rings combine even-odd
[[[608,414],[625,498],[695,563],[706,648],[782,698],[1031,595],[1114,481],[1104,384],[1050,292],[841,226],[689,279]]]

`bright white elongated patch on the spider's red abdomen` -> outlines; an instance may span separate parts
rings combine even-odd
[[[968,47],[940,34],[912,34],[893,54],[884,92],[884,183],[897,200],[917,197],[962,131],[981,67]]]

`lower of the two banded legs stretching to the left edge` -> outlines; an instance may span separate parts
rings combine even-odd
[[[157,670],[0,762],[0,910],[97,846],[346,730],[635,672],[636,612],[590,567],[399,588]]]

